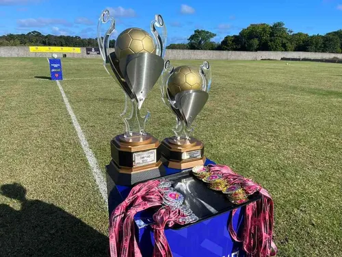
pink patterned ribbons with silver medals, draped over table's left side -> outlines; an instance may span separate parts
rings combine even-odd
[[[109,247],[111,257],[142,257],[135,238],[134,216],[148,208],[159,207],[153,215],[155,224],[154,257],[172,256],[164,228],[175,223],[198,221],[189,208],[183,205],[184,197],[172,188],[168,180],[152,180],[134,186],[128,197],[111,213]],[[163,207],[161,207],[163,206]],[[160,208],[161,207],[161,208]]]

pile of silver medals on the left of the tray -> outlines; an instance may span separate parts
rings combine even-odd
[[[198,217],[184,204],[184,196],[172,187],[172,183],[170,180],[163,180],[158,186],[163,191],[163,205],[181,210],[182,217],[179,219],[181,223],[188,224],[198,221]]]

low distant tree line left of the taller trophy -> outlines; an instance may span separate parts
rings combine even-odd
[[[5,46],[49,46],[49,47],[98,47],[97,38],[79,36],[43,35],[33,31],[27,34],[7,34],[0,36],[0,47]],[[109,47],[115,46],[115,40],[109,41]]]

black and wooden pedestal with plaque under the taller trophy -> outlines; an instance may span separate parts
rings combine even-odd
[[[159,140],[150,134],[129,138],[123,134],[116,136],[111,140],[111,162],[106,167],[107,173],[122,186],[162,176],[159,145]]]

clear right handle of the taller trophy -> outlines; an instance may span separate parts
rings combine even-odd
[[[157,27],[161,28],[161,35],[159,34]],[[155,19],[150,25],[150,31],[153,34],[153,41],[155,41],[155,45],[157,46],[156,54],[163,58],[166,51],[166,37],[168,33],[163,17],[160,14],[155,15]]]

